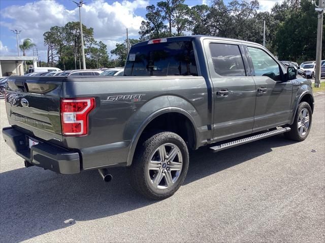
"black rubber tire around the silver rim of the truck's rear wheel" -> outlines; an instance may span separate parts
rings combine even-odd
[[[182,168],[180,170],[180,173],[177,172],[178,179],[175,182],[173,182],[173,184],[170,187],[159,189],[154,187],[153,184],[154,178],[153,179],[151,178],[148,167],[149,167],[149,162],[152,159],[152,156],[155,156],[155,153],[157,153],[157,149],[160,148],[161,146],[165,146],[165,144],[173,144],[178,147],[178,151],[181,153],[182,156],[181,158]],[[166,153],[168,153],[167,150]],[[163,161],[163,159],[161,160]],[[163,170],[163,169],[158,169],[158,170]],[[131,166],[131,176],[130,176],[131,185],[134,187],[136,191],[146,196],[147,198],[154,199],[154,200],[165,199],[167,197],[172,196],[179,189],[179,187],[182,185],[182,183],[185,180],[187,170],[188,170],[188,149],[184,140],[176,133],[172,133],[172,132],[157,133],[153,136],[150,136],[150,138],[145,139],[145,141],[143,141],[137,147],[135,158]],[[170,173],[172,173],[172,171],[170,171]],[[154,176],[156,176],[156,174],[154,174]],[[162,178],[166,180],[166,176]],[[164,182],[163,180],[161,181]]]

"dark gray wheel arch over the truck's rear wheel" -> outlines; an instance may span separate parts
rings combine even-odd
[[[146,126],[154,118],[169,112],[185,115],[191,121],[196,134],[196,141],[199,141],[198,128],[202,126],[202,120],[196,108],[187,100],[178,96],[166,95],[156,97],[144,104],[126,123],[123,137],[124,140],[131,140],[127,156],[127,166],[132,164],[137,143]]]

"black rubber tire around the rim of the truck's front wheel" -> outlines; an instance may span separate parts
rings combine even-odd
[[[299,123],[300,113],[302,112],[303,109],[308,110],[309,126],[308,126],[306,133],[302,135],[301,133],[299,133],[298,123]],[[301,102],[298,105],[294,123],[291,126],[289,126],[291,128],[291,130],[290,130],[290,132],[284,133],[284,137],[287,139],[290,139],[290,140],[294,140],[294,141],[299,141],[299,142],[304,141],[308,137],[308,134],[310,132],[311,123],[312,123],[312,111],[311,111],[310,105],[307,102]]]

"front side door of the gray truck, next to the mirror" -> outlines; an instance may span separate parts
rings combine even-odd
[[[256,84],[253,132],[285,125],[289,121],[292,84],[282,82],[279,63],[266,51],[247,47]]]

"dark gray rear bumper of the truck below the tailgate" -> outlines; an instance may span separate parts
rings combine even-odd
[[[30,164],[60,174],[80,173],[79,153],[48,142],[28,147],[28,137],[12,127],[2,130],[5,142]],[[37,139],[37,138],[36,138]]]

